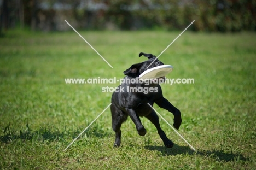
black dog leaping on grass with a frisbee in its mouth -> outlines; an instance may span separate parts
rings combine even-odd
[[[167,99],[162,96],[162,90],[158,83],[154,83],[153,81],[147,84],[135,82],[135,79],[138,79],[139,75],[147,69],[164,65],[164,63],[158,59],[155,60],[156,57],[152,54],[144,54],[143,52],[139,53],[139,57],[142,55],[148,57],[148,61],[134,64],[126,71],[124,71],[124,74],[126,75],[124,78],[125,81],[118,86],[119,92],[114,92],[112,95],[111,114],[112,128],[115,131],[114,146],[120,146],[121,124],[127,120],[128,116],[130,116],[132,121],[135,123],[138,134],[140,136],[144,136],[147,131],[139,119],[139,116],[144,116],[155,125],[156,129],[158,130],[158,134],[164,142],[165,146],[167,148],[172,148],[173,143],[166,137],[165,132],[161,129],[158,115],[156,115],[154,110],[147,103],[152,106],[154,103],[156,103],[159,105],[159,107],[171,112],[174,115],[173,126],[176,129],[179,128],[182,122],[181,112],[179,112],[176,107],[174,107],[170,102],[167,101]],[[152,61],[154,61],[154,63],[152,63]],[[152,65],[150,65],[150,63],[152,63]],[[150,67],[147,68],[149,65]],[[140,91],[136,91],[136,89],[131,91],[129,90],[131,88],[141,89]],[[150,88],[151,90],[149,90]],[[142,91],[142,89],[148,90]]]

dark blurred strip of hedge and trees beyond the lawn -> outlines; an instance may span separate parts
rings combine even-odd
[[[253,0],[0,0],[0,33],[10,28],[256,31]]]

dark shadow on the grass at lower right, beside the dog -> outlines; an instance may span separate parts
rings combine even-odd
[[[224,151],[210,151],[210,150],[203,150],[203,151],[194,151],[189,148],[189,146],[179,146],[175,144],[172,149],[167,149],[165,146],[146,146],[148,150],[158,150],[163,156],[168,155],[181,155],[181,154],[188,154],[188,155],[200,155],[203,157],[212,157],[216,159],[216,161],[250,161],[248,158],[244,157],[241,154],[233,154],[233,153],[225,153]]]

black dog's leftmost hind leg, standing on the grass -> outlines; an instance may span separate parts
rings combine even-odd
[[[115,143],[114,146],[120,146],[121,143],[121,125],[122,123],[127,120],[127,116],[125,115],[122,110],[115,106],[113,103],[110,107],[111,114],[112,114],[112,128],[115,132]]]

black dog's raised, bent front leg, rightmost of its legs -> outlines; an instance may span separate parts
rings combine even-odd
[[[179,109],[174,107],[164,97],[162,97],[161,99],[155,101],[155,103],[158,104],[158,106],[160,108],[166,109],[166,110],[168,110],[169,112],[171,112],[174,115],[173,126],[178,130],[179,126],[181,126],[181,123],[182,123],[181,112],[179,111]]]

